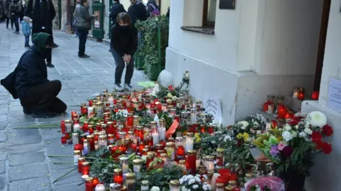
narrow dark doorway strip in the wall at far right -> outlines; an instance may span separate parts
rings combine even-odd
[[[318,42],[318,57],[316,58],[314,91],[320,91],[320,83],[323,68],[323,58],[325,56],[325,40],[327,38],[329,12],[330,12],[331,0],[323,1],[323,11],[320,28],[320,40]]]

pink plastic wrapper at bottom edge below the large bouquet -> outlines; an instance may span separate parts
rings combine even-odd
[[[251,187],[255,185],[259,185],[261,189],[267,186],[272,191],[285,191],[283,180],[276,176],[264,176],[254,180],[249,180],[245,183],[245,190],[249,191],[251,190]]]

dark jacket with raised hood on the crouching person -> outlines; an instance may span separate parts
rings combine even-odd
[[[16,69],[1,80],[13,98],[24,98],[29,88],[48,81],[45,52],[46,40],[50,35],[36,33],[32,36],[33,45],[21,56]]]

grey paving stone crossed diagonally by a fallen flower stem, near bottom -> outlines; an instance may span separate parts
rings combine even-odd
[[[60,176],[65,175],[69,171],[70,169],[51,171],[50,172],[52,174],[50,177],[51,183],[57,178],[60,178]],[[58,180],[58,182],[55,183],[55,185],[69,185],[72,183],[82,183],[82,178],[80,177],[80,173],[78,173],[77,169],[73,170],[70,174],[66,175],[64,178]]]

